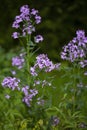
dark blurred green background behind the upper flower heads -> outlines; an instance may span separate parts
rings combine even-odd
[[[62,46],[76,30],[87,30],[87,0],[0,0],[0,46],[6,52],[19,46],[19,41],[11,37],[12,23],[25,4],[39,10],[42,23],[37,26],[37,34],[44,37],[39,52],[47,53],[54,61],[58,61]]]

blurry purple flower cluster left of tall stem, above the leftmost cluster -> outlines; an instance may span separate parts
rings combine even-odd
[[[18,69],[21,69],[24,65],[24,58],[23,55],[20,54],[20,56],[16,56],[12,58],[12,66],[16,66]]]

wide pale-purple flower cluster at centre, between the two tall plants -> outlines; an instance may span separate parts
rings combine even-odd
[[[36,63],[30,68],[31,75],[37,76],[37,69],[44,69],[45,72],[51,72],[54,69],[58,69],[60,64],[53,64],[52,61],[47,57],[46,54],[40,54],[36,57]]]

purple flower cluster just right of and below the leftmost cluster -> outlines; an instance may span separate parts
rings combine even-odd
[[[38,94],[38,91],[36,89],[29,89],[29,86],[25,86],[22,88],[22,92],[24,93],[23,102],[30,107],[31,101],[33,97],[35,97]]]

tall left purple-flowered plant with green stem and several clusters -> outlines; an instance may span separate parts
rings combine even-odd
[[[15,17],[12,24],[12,27],[17,30],[13,32],[12,37],[14,39],[24,39],[24,52],[12,58],[12,67],[14,68],[11,71],[12,76],[5,77],[1,83],[3,88],[8,88],[11,91],[15,91],[15,93],[18,91],[19,94],[22,94],[21,102],[25,104],[26,108],[28,107],[30,111],[28,113],[31,118],[33,118],[31,113],[36,111],[35,109],[38,110],[41,106],[44,110],[44,106],[47,106],[47,102],[51,100],[47,87],[53,88],[52,81],[46,76],[41,79],[40,74],[49,73],[60,67],[60,63],[54,64],[47,54],[39,54],[36,57],[35,64],[31,64],[34,47],[43,41],[41,34],[32,37],[32,34],[36,31],[36,25],[40,23],[41,16],[39,16],[38,10],[30,9],[28,5],[20,8],[20,14]],[[21,73],[21,76],[18,77],[18,73]],[[11,95],[6,94],[5,98],[10,100]]]

